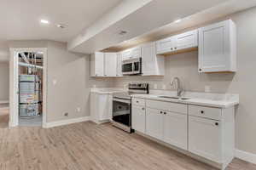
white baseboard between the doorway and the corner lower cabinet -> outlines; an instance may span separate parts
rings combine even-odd
[[[79,117],[79,118],[61,120],[61,121],[56,121],[56,122],[46,122],[43,125],[43,127],[44,128],[58,127],[58,126],[62,126],[62,125],[72,124],[75,122],[86,122],[86,121],[90,121],[90,116],[83,116],[83,117]]]

